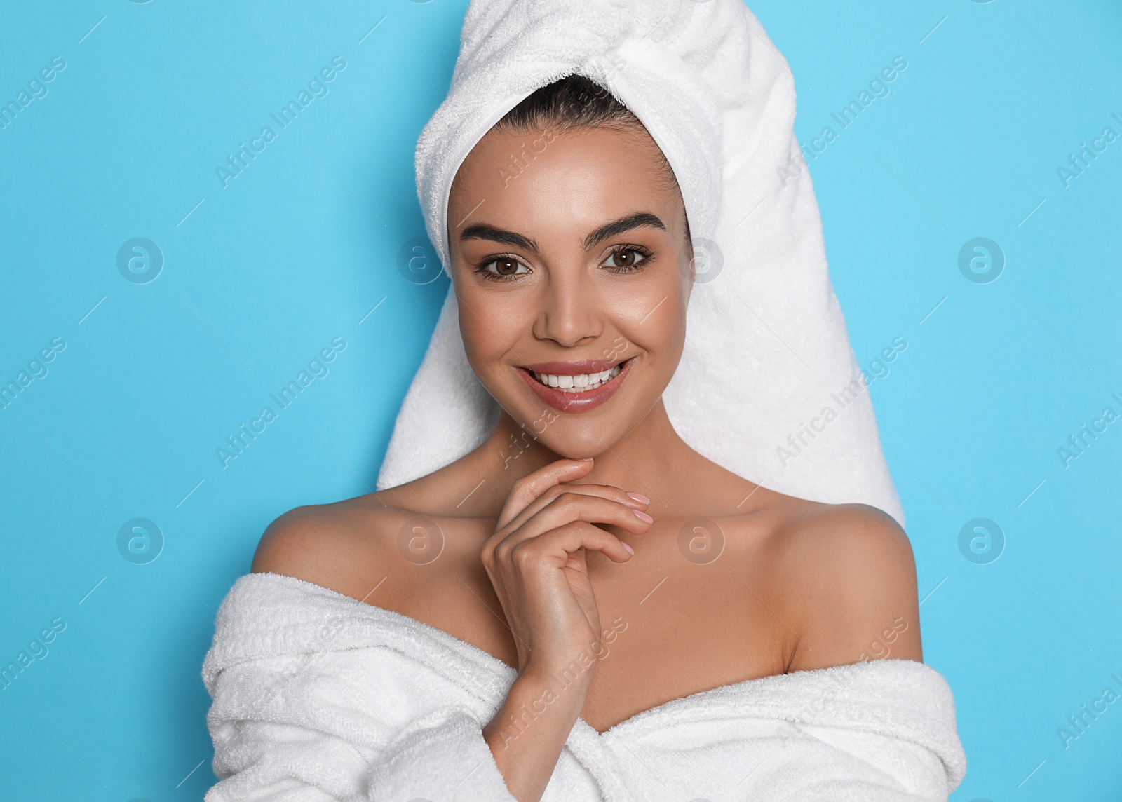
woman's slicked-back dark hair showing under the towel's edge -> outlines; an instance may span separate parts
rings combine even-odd
[[[631,109],[616,100],[607,89],[583,75],[568,75],[535,90],[495,123],[495,129],[499,131],[550,128],[559,128],[562,131],[574,128],[608,128],[616,131],[642,131],[650,136],[646,127]],[[659,149],[657,145],[655,148]],[[659,157],[663,177],[671,186],[678,188],[678,178],[661,149]],[[688,219],[686,232],[688,241]]]

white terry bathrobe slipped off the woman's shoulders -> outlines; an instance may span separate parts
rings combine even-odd
[[[291,577],[241,577],[203,664],[205,802],[513,798],[482,738],[515,672],[406,616]],[[911,661],[703,691],[598,734],[578,720],[545,802],[946,800],[954,699]]]

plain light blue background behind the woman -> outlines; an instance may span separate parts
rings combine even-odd
[[[199,674],[214,611],[274,517],[374,485],[444,294],[396,262],[424,232],[413,147],[463,9],[0,10],[0,100],[66,62],[0,130],[0,379],[66,342],[0,411],[0,662],[66,621],[0,691],[4,798],[197,800],[214,782]],[[871,391],[926,660],[955,691],[969,759],[954,799],[1118,800],[1122,704],[1067,748],[1057,729],[1122,692],[1122,422],[1066,468],[1057,448],[1104,406],[1122,413],[1122,140],[1067,187],[1057,167],[1105,127],[1122,135],[1122,10],[754,9],[798,75],[804,141],[908,61],[810,169],[858,358],[909,343]],[[334,56],[330,93],[223,188],[227,154]],[[117,268],[135,237],[165,258],[149,284]],[[976,237],[1004,253],[995,282],[959,271]],[[330,374],[222,468],[215,448],[335,337]],[[145,565],[117,547],[136,517],[165,537]],[[988,564],[959,551],[976,517],[1004,532]]]

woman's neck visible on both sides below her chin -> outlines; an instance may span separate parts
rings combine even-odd
[[[480,487],[479,492],[481,506],[494,508],[496,514],[515,480],[563,459],[534,440],[506,411],[473,457],[481,474],[498,479],[487,482],[491,487],[486,490],[486,486]],[[680,474],[698,454],[674,431],[660,398],[635,428],[594,459],[592,470],[574,483],[613,485],[657,500],[673,486],[672,474]]]

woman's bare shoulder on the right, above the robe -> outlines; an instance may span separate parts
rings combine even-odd
[[[922,662],[916,560],[892,516],[807,503],[776,532],[799,633],[790,671],[892,657]]]

